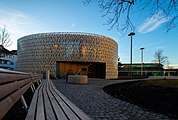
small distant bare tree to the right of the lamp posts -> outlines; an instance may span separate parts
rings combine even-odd
[[[154,57],[153,62],[155,63],[162,64],[162,65],[165,65],[168,63],[168,57],[163,55],[163,50],[161,49],[158,49],[157,51],[155,51],[153,57]]]

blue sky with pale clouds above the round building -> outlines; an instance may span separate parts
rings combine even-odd
[[[178,27],[168,33],[165,24],[169,19],[161,18],[158,12],[150,18],[147,11],[133,15],[136,35],[133,36],[133,63],[152,62],[158,49],[169,59],[170,66],[178,67]],[[100,34],[118,43],[121,63],[130,63],[130,37],[121,35],[116,29],[108,30],[108,17],[93,2],[84,5],[83,0],[0,0],[0,28],[10,33],[13,44],[9,50],[17,49],[17,40],[25,35],[44,32],[85,32]]]

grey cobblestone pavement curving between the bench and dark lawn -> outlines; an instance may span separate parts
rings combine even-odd
[[[87,85],[53,80],[56,88],[94,120],[173,120],[106,94],[102,88],[123,80],[90,79]]]

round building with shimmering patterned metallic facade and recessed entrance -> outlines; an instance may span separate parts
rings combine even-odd
[[[89,33],[39,33],[18,39],[17,70],[65,78],[118,78],[118,45],[113,39]]]

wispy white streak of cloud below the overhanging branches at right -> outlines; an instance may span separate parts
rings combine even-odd
[[[170,18],[164,17],[162,12],[158,12],[151,18],[147,18],[145,22],[138,28],[140,33],[148,33],[158,29],[163,23],[168,22]]]

